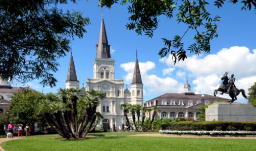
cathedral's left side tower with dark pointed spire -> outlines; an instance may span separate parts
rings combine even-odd
[[[68,69],[68,76],[66,80],[66,89],[78,89],[79,88],[79,81],[76,77],[76,68],[73,60],[73,55],[71,52],[70,61],[69,61],[69,69]]]

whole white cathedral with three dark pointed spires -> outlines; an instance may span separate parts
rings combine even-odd
[[[79,81],[76,76],[76,69],[71,53],[66,89],[79,88]],[[93,78],[86,81],[85,91],[97,90],[105,93],[106,98],[100,100],[97,112],[104,115],[100,124],[104,129],[111,129],[126,125],[121,104],[143,105],[143,84],[139,70],[138,58],[136,55],[133,80],[131,89],[124,90],[124,81],[115,79],[115,60],[110,55],[104,19],[101,19],[98,44],[96,45],[96,58],[93,62]]]

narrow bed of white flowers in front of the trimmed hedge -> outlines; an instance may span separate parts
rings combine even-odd
[[[222,130],[160,130],[161,134],[186,135],[256,135],[256,131],[222,131]]]

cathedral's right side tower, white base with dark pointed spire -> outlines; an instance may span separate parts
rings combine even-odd
[[[133,79],[131,83],[131,104],[143,105],[143,84],[141,81],[137,52],[133,72]]]

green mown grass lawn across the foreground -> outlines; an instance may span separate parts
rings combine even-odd
[[[127,136],[132,133],[97,133],[83,140],[55,139],[58,135],[30,136],[6,141],[6,150],[256,150],[256,139]],[[92,134],[90,134],[92,136]],[[88,135],[89,136],[89,135]],[[93,134],[93,136],[95,136]]]

